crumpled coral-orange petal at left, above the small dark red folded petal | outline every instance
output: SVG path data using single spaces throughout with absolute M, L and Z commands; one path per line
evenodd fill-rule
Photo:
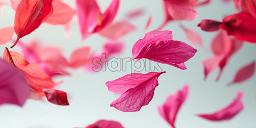
M 56 86 L 50 76 L 47 75 L 36 62 L 28 63 L 22 55 L 17 52 L 10 52 L 10 54 L 15 66 L 25 74 L 28 84 L 37 89 L 36 91 L 39 95 L 44 95 L 42 89 Z M 6 61 L 10 60 L 6 50 L 4 51 L 3 59 Z

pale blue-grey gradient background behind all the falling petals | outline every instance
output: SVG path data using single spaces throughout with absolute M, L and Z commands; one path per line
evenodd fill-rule
M 101 10 L 105 10 L 111 0 L 97 0 Z M 7 0 L 7 2 L 9 2 Z M 66 0 L 66 2 L 75 7 L 75 0 Z M 9 2 L 10 3 L 10 2 Z M 55 81 L 63 80 L 57 89 L 66 91 L 68 94 L 69 106 L 57 106 L 47 102 L 44 98 L 42 101 L 27 100 L 21 108 L 13 105 L 0 106 L 0 128 L 72 128 L 85 127 L 99 119 L 117 120 L 126 128 L 168 128 L 170 127 L 163 120 L 156 107 L 163 104 L 166 97 L 181 89 L 184 84 L 190 85 L 189 97 L 187 102 L 181 107 L 176 118 L 177 128 L 253 128 L 256 127 L 256 76 L 244 82 L 243 84 L 227 87 L 235 72 L 243 65 L 251 63 L 256 59 L 256 44 L 245 43 L 243 48 L 231 58 L 227 67 L 223 71 L 219 82 L 215 81 L 218 69 L 209 75 L 206 81 L 203 80 L 202 61 L 210 56 L 209 44 L 216 33 L 207 33 L 196 25 L 205 18 L 221 20 L 224 16 L 236 12 L 233 3 L 223 3 L 221 0 L 212 0 L 209 5 L 196 8 L 198 16 L 192 22 L 183 22 L 186 27 L 193 28 L 200 32 L 203 37 L 208 52 L 192 45 L 198 49 L 192 59 L 185 64 L 188 70 L 182 71 L 176 67 L 161 64 L 165 74 L 159 78 L 159 86 L 156 87 L 152 101 L 141 108 L 139 112 L 126 113 L 110 107 L 112 101 L 119 95 L 107 90 L 105 82 L 113 80 L 130 73 L 127 72 L 98 72 L 87 73 L 83 69 L 71 71 L 71 77 L 59 77 Z M 131 57 L 133 44 L 144 37 L 143 31 L 149 14 L 152 14 L 152 24 L 148 31 L 156 29 L 164 20 L 164 9 L 162 0 L 121 0 L 119 12 L 115 21 L 125 20 L 124 14 L 127 11 L 144 7 L 147 9 L 145 15 L 131 20 L 131 23 L 137 26 L 137 30 L 125 37 L 125 50 L 118 57 Z M 0 28 L 7 25 L 14 25 L 15 12 L 10 5 L 5 6 L 1 11 Z M 41 40 L 45 45 L 59 46 L 63 48 L 63 53 L 68 57 L 76 48 L 81 46 L 91 46 L 93 50 L 100 51 L 102 44 L 107 41 L 97 34 L 80 42 L 80 32 L 77 25 L 77 16 L 70 24 L 71 36 L 64 36 L 63 26 L 52 26 L 42 24 L 33 33 L 25 36 L 21 40 L 28 43 L 32 39 Z M 174 40 L 188 40 L 184 37 L 183 31 L 178 24 L 169 23 L 164 29 L 173 31 Z M 13 37 L 16 39 L 16 35 Z M 10 47 L 8 43 L 0 46 L 1 54 L 4 47 Z M 19 51 L 16 46 L 10 51 Z M 146 73 L 146 72 L 141 72 Z M 196 113 L 215 112 L 228 105 L 234 97 L 236 91 L 245 92 L 243 103 L 244 110 L 229 121 L 212 122 L 196 117 Z

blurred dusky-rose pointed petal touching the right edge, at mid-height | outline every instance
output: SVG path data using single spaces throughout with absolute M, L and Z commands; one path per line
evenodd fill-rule
M 232 82 L 229 83 L 229 85 L 241 83 L 249 78 L 251 78 L 255 73 L 255 61 L 252 63 L 245 65 L 241 67 L 235 74 L 235 77 Z

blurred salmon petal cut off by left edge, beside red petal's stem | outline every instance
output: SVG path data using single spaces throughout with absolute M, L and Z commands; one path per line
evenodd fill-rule
M 0 44 L 5 44 L 9 42 L 12 39 L 12 36 L 14 34 L 14 27 L 4 27 L 0 29 Z

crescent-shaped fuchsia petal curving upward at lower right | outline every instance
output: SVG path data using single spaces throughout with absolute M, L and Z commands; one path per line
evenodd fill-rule
M 238 92 L 237 97 L 225 108 L 213 114 L 197 114 L 197 116 L 211 121 L 222 121 L 232 119 L 240 111 L 243 110 L 242 97 L 244 93 Z

